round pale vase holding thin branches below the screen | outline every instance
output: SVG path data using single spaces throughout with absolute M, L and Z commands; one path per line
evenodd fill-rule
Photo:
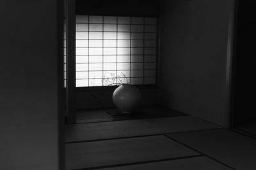
M 132 84 L 122 84 L 113 93 L 114 104 L 124 114 L 131 113 L 140 101 L 140 90 Z

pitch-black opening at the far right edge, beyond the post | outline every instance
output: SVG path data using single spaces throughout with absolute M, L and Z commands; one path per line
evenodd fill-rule
M 235 68 L 235 123 L 256 119 L 256 2 L 238 1 L 236 68 Z

